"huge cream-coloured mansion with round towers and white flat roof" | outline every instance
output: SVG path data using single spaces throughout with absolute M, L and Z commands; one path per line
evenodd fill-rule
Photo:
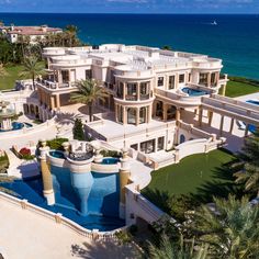
M 43 106 L 59 111 L 77 91 L 76 81 L 94 78 L 110 92 L 99 105 L 113 113 L 114 120 L 106 120 L 102 127 L 90 123 L 89 131 L 119 147 L 126 143 L 144 153 L 179 143 L 176 121 L 184 110 L 196 111 L 202 95 L 221 88 L 224 92 L 227 82 L 226 76 L 221 78 L 222 60 L 206 55 L 108 44 L 45 48 L 43 56 L 49 74 L 48 80 L 37 82 Z

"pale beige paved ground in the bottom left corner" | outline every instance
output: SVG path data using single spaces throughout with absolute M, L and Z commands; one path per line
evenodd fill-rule
M 0 201 L 0 252 L 7 259 L 136 258 L 131 245 L 92 241 L 48 218 Z

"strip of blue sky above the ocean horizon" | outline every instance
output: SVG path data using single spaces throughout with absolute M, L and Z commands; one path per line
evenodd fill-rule
M 0 12 L 259 13 L 259 0 L 0 0 Z

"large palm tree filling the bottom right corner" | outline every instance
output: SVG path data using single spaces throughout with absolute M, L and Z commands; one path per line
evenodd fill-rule
M 216 258 L 259 257 L 259 207 L 252 207 L 247 198 L 240 201 L 215 199 L 215 211 L 202 205 L 188 213 L 187 230 L 195 239 L 210 245 Z

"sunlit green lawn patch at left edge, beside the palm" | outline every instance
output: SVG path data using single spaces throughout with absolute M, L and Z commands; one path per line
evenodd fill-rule
M 19 80 L 19 74 L 23 67 L 21 65 L 5 67 L 8 76 L 0 78 L 0 90 L 13 89 L 15 80 Z

